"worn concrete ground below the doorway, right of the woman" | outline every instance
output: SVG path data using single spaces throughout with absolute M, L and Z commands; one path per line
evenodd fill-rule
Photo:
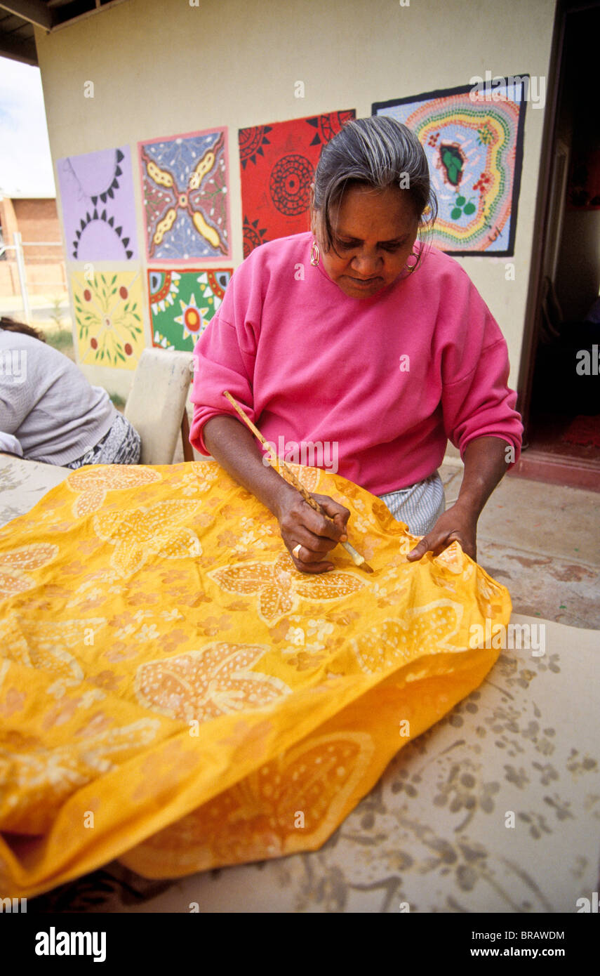
M 460 461 L 447 456 L 440 476 L 449 508 Z M 479 518 L 477 561 L 513 613 L 600 630 L 600 492 L 506 475 Z

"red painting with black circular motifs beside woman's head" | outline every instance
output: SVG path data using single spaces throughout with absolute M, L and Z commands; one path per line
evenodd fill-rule
M 265 241 L 308 229 L 321 149 L 355 117 L 349 109 L 239 130 L 245 258 Z

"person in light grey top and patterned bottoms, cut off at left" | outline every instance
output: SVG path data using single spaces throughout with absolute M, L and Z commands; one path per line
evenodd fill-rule
M 140 461 L 140 434 L 106 390 L 12 318 L 0 319 L 0 447 L 62 468 Z

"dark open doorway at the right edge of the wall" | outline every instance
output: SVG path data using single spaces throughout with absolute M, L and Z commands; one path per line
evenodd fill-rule
M 600 6 L 557 9 L 514 473 L 600 491 Z M 530 296 L 531 299 L 531 296 Z

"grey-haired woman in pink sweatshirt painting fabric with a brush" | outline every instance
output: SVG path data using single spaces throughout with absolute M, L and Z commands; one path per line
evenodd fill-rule
M 340 474 L 422 536 L 410 559 L 455 539 L 475 559 L 479 514 L 518 459 L 506 344 L 460 265 L 418 242 L 435 213 L 410 130 L 382 116 L 347 124 L 317 166 L 312 232 L 254 251 L 195 347 L 190 440 L 273 512 L 304 572 L 334 568 L 349 513 L 316 496 L 332 525 L 265 467 L 223 390 L 286 452 L 337 445 Z M 464 475 L 445 511 L 448 438 Z

